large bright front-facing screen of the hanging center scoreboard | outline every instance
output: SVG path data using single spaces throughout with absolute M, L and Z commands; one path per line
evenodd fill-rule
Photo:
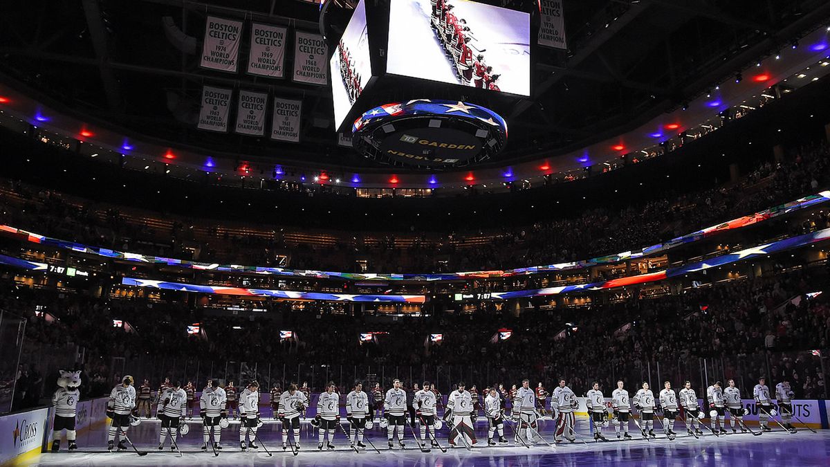
M 530 96 L 528 13 L 466 0 L 389 8 L 388 73 Z

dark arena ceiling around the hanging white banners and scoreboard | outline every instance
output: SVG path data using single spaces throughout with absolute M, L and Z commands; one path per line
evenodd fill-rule
M 530 0 L 490 1 L 524 11 Z M 198 66 L 207 14 L 320 30 L 320 5 L 300 0 L 11 2 L 0 16 L 0 73 L 79 118 L 158 142 L 235 154 L 382 170 L 337 145 L 328 86 L 227 75 Z M 348 7 L 339 2 L 330 8 Z M 569 50 L 536 47 L 532 96 L 505 115 L 507 149 L 487 165 L 577 150 L 677 109 L 713 83 L 830 17 L 824 0 L 574 0 Z M 191 53 L 193 52 L 193 53 Z M 193 119 L 203 84 L 303 101 L 300 145 L 215 135 Z M 405 171 L 405 170 L 401 170 Z

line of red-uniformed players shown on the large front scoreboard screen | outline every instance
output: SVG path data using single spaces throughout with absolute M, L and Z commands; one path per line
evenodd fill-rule
M 467 26 L 466 19 L 456 17 L 455 8 L 447 0 L 431 0 L 432 28 L 435 29 L 447 58 L 452 60 L 456 69 L 458 82 L 464 86 L 476 86 L 491 91 L 500 91 L 496 81 L 498 74 L 493 74 L 493 67 L 487 66 L 484 50 L 479 50 L 473 61 L 472 44 L 476 38 Z

